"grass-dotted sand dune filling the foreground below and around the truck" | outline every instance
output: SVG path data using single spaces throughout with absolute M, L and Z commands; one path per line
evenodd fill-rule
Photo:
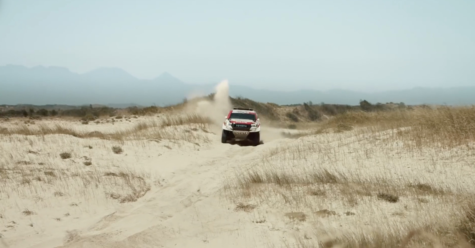
M 1 123 L 0 247 L 398 247 L 465 221 L 471 145 L 271 127 L 257 147 L 221 144 L 219 99 L 180 115 Z M 432 243 L 410 247 L 438 242 L 421 237 Z

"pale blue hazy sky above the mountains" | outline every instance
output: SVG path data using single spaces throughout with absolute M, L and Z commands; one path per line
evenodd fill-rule
M 475 0 L 0 0 L 0 65 L 276 89 L 475 85 Z

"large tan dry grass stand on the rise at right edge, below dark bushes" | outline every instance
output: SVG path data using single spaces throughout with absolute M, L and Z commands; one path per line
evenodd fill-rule
M 323 121 L 322 126 L 337 131 L 356 126 L 362 128 L 360 133 L 406 128 L 394 135 L 412 140 L 417 148 L 454 148 L 475 141 L 475 106 L 348 111 Z

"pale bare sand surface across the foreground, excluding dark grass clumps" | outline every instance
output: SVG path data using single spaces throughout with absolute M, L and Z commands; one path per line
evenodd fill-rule
M 2 127 L 7 125 L 14 124 Z M 68 125 L 85 128 L 79 122 Z M 101 125 L 104 132 L 116 128 Z M 341 189 L 331 186 L 315 196 L 304 193 L 305 187 L 232 188 L 248 169 L 304 177 L 324 168 L 358 179 L 382 175 L 395 185 L 417 179 L 471 190 L 473 184 L 472 157 L 463 151 L 409 152 L 402 144 L 385 141 L 384 133 L 377 139 L 352 132 L 284 139 L 278 137 L 280 130 L 264 130 L 264 144 L 257 147 L 221 144 L 219 134 L 200 130 L 196 132 L 209 142 L 2 136 L 2 240 L 10 248 L 292 247 L 314 241 L 322 231 L 397 229 L 447 219 L 454 210 L 450 199 L 426 196 L 433 204 L 424 204 L 409 195 L 397 203 L 361 197 L 352 206 L 351 199 L 339 196 Z M 123 153 L 114 154 L 114 145 L 122 146 Z M 72 158 L 61 159 L 63 151 L 71 151 Z M 92 165 L 83 164 L 85 157 Z M 131 179 L 129 185 L 120 177 L 104 176 L 120 171 L 140 179 Z M 104 193 L 127 195 L 143 188 L 150 190 L 134 202 L 120 203 Z M 238 211 L 238 202 L 255 208 Z M 26 216 L 25 209 L 34 213 Z M 317 212 L 322 209 L 330 216 Z

